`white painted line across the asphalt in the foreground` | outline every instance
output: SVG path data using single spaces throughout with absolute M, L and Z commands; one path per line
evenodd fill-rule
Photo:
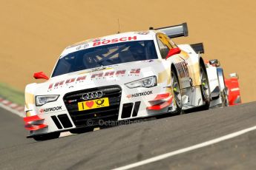
M 114 170 L 132 169 L 132 168 L 135 168 L 137 166 L 145 165 L 147 163 L 153 163 L 153 162 L 156 162 L 158 160 L 163 160 L 163 159 L 165 159 L 167 157 L 174 156 L 176 154 L 182 154 L 184 152 L 189 152 L 189 151 L 194 150 L 194 149 L 200 149 L 202 147 L 209 146 L 209 145 L 212 145 L 214 143 L 219 143 L 219 142 L 221 142 L 223 140 L 229 140 L 229 139 L 231 139 L 233 137 L 237 137 L 237 136 L 243 135 L 243 134 L 245 134 L 247 132 L 251 132 L 251 131 L 253 131 L 255 129 L 256 129 L 256 126 L 252 126 L 250 128 L 243 129 L 243 130 L 231 133 L 229 135 L 224 135 L 222 137 L 217 137 L 217 138 L 215 138 L 213 140 L 208 140 L 206 142 L 199 143 L 199 144 L 196 144 L 194 146 L 188 146 L 188 147 L 183 148 L 183 149 L 178 149 L 178 150 L 176 150 L 174 152 L 168 152 L 168 153 L 165 153 L 165 154 L 160 154 L 160 155 L 158 155 L 156 157 L 151 157 L 151 158 L 148 158 L 146 160 L 139 161 L 137 163 L 131 163 L 131 164 L 127 165 L 127 166 L 121 166 L 121 167 L 116 168 Z

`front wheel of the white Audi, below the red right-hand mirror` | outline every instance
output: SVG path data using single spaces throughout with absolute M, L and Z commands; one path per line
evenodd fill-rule
M 177 75 L 177 71 L 174 68 L 171 69 L 171 88 L 174 94 L 174 102 L 177 106 L 177 109 L 174 112 L 174 114 L 180 115 L 183 108 L 182 94 L 181 94 L 180 81 Z

